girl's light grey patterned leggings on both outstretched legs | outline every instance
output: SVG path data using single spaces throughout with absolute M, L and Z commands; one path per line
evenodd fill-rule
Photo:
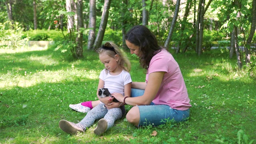
M 120 108 L 111 108 L 108 110 L 103 106 L 104 104 L 98 104 L 98 106 L 92 108 L 79 124 L 82 124 L 86 130 L 86 128 L 92 126 L 95 120 L 104 118 L 108 122 L 107 130 L 114 126 L 115 120 L 122 118 L 122 110 Z

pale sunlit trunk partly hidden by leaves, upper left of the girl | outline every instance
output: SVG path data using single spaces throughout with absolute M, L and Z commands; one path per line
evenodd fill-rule
M 72 12 L 72 2 L 73 0 L 66 0 L 66 10 L 67 12 Z M 72 28 L 74 28 L 74 16 L 72 16 L 71 14 L 68 14 L 68 22 L 67 22 L 67 29 L 68 29 L 68 32 L 70 32 L 70 30 L 72 30 Z

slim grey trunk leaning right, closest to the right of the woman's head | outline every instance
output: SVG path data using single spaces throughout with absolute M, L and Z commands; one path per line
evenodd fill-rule
M 166 48 L 169 47 L 170 41 L 172 39 L 172 33 L 173 33 L 173 30 L 174 30 L 174 27 L 175 27 L 175 24 L 176 24 L 176 20 L 177 20 L 177 17 L 178 17 L 179 9 L 180 9 L 180 0 L 177 0 L 176 6 L 175 6 L 174 16 L 173 16 L 173 19 L 172 19 L 172 24 L 170 26 L 170 31 L 168 33 L 166 41 L 164 42 L 164 47 L 166 47 Z

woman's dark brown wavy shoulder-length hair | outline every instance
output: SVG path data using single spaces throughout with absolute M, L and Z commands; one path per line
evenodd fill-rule
M 162 49 L 158 46 L 156 36 L 146 26 L 138 25 L 129 30 L 125 39 L 140 47 L 140 65 L 148 70 L 150 60 Z

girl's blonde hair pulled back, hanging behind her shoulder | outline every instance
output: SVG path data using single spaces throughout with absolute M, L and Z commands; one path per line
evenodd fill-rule
M 111 46 L 114 48 L 105 48 L 105 45 L 109 43 L 111 44 Z M 114 44 L 113 42 L 106 42 L 106 44 L 104 44 L 102 47 L 96 49 L 95 51 L 98 54 L 102 54 L 105 53 L 108 56 L 115 58 L 115 55 L 117 54 L 119 56 L 119 61 L 118 64 L 119 66 L 125 70 L 126 72 L 130 72 L 131 70 L 131 63 L 130 60 L 128 60 L 128 57 L 125 55 L 124 52 L 122 52 L 122 50 L 120 48 L 118 48 L 118 46 L 116 44 Z

